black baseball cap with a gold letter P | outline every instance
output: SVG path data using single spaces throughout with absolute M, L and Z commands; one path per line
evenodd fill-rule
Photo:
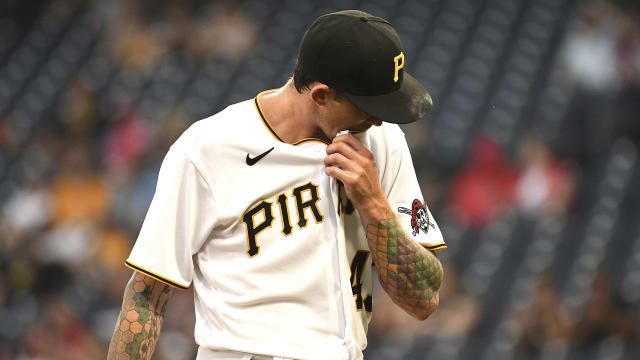
M 307 29 L 298 66 L 339 91 L 358 109 L 406 124 L 431 110 L 431 95 L 404 70 L 398 33 L 385 19 L 359 10 L 322 15 Z

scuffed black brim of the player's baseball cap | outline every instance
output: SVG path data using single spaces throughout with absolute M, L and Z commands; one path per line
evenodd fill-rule
M 358 109 L 390 123 L 408 124 L 423 118 L 431 110 L 431 95 L 413 76 L 403 74 L 400 89 L 384 95 L 343 94 Z

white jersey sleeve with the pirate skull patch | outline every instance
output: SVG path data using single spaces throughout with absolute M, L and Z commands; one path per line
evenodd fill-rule
M 388 141 L 394 145 L 387 153 L 387 172 L 382 179 L 389 204 L 405 232 L 417 242 L 432 251 L 446 249 L 440 228 L 424 202 L 404 133 L 398 128 L 392 135 Z

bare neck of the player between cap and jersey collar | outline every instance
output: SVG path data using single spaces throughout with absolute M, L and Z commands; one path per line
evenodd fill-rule
M 269 125 L 287 144 L 306 138 L 329 141 L 315 125 L 308 101 L 289 79 L 282 88 L 260 96 L 260 108 Z

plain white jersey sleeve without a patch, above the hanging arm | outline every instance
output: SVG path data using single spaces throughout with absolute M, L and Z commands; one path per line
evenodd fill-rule
M 162 162 L 156 192 L 126 265 L 156 280 L 186 289 L 193 255 L 215 225 L 211 189 L 193 162 L 172 147 Z

